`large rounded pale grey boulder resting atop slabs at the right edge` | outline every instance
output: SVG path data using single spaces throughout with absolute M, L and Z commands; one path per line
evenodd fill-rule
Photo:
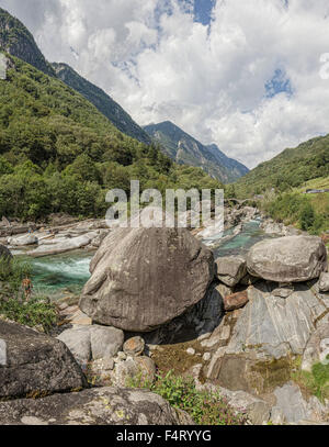
M 269 281 L 308 281 L 327 271 L 327 250 L 316 236 L 265 239 L 251 247 L 247 267 L 250 275 Z

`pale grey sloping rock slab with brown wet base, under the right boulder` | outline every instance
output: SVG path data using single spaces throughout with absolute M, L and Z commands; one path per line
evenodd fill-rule
M 249 303 L 239 311 L 229 342 L 217 348 L 206 368 L 208 379 L 253 394 L 290 380 L 294 356 L 303 355 L 329 302 L 305 284 L 295 284 L 286 299 L 273 295 L 275 287 L 259 282 L 249 288 Z

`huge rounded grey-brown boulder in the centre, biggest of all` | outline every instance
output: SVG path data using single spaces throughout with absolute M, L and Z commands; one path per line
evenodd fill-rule
M 118 228 L 93 257 L 80 309 L 94 322 L 150 332 L 201 301 L 214 257 L 185 228 Z

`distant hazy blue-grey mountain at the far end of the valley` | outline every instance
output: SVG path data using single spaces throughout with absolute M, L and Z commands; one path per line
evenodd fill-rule
M 181 165 L 200 166 L 224 183 L 235 181 L 249 172 L 246 166 L 228 158 L 215 144 L 203 145 L 170 121 L 150 124 L 144 130 L 174 161 Z

